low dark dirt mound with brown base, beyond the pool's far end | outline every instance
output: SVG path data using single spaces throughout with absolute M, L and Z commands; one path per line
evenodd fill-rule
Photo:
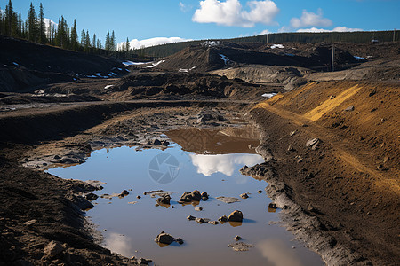
M 260 85 L 201 73 L 136 73 L 117 81 L 108 99 L 138 98 L 260 98 Z M 261 93 L 262 92 L 262 93 Z M 268 91 L 267 91 L 268 92 Z

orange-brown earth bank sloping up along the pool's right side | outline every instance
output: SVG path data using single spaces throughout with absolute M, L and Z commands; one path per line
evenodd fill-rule
M 356 85 L 361 89 L 354 91 Z M 343 91 L 347 97 L 334 103 L 332 95 Z M 270 183 L 267 192 L 284 208 L 284 226 L 329 265 L 396 265 L 400 257 L 398 151 L 389 129 L 398 120 L 371 111 L 396 108 L 388 95 L 398 91 L 393 84 L 316 83 L 251 111 L 268 162 L 243 172 Z M 350 105 L 357 112 L 347 111 Z M 310 115 L 313 110 L 323 114 Z M 338 129 L 335 120 L 345 127 Z M 379 121 L 389 121 L 389 128 Z M 316 144 L 307 146 L 311 139 Z

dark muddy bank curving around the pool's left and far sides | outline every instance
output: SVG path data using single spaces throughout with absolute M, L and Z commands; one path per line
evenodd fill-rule
M 212 111 L 212 106 L 225 106 L 226 110 Z M 0 245 L 4 250 L 0 264 L 139 263 L 140 258 L 111 254 L 94 242 L 93 226 L 84 219 L 84 210 L 92 203 L 84 195 L 96 187 L 63 180 L 42 169 L 50 167 L 55 157 L 65 159 L 65 165 L 82 163 L 92 150 L 116 145 L 163 149 L 155 140 L 168 127 L 224 124 L 234 120 L 231 113 L 244 106 L 224 101 L 91 103 L 2 113 L 2 141 L 7 142 L 0 144 Z M 205 109 L 209 111 L 204 113 Z M 22 167 L 31 158 L 40 165 Z M 51 160 L 44 162 L 46 158 Z M 60 242 L 59 254 L 45 254 L 51 241 Z

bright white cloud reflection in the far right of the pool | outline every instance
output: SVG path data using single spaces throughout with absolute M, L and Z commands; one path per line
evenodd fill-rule
M 197 173 L 204 176 L 211 176 L 218 172 L 232 176 L 236 164 L 253 166 L 264 161 L 258 154 L 189 154 L 189 156 L 193 165 L 197 167 Z

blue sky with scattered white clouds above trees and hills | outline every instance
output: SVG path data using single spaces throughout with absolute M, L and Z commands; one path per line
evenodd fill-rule
M 32 1 L 53 21 L 118 42 L 154 37 L 230 38 L 265 32 L 388 30 L 400 28 L 400 0 L 41 0 Z M 8 0 L 0 0 L 4 10 Z M 30 1 L 13 0 L 26 17 Z

